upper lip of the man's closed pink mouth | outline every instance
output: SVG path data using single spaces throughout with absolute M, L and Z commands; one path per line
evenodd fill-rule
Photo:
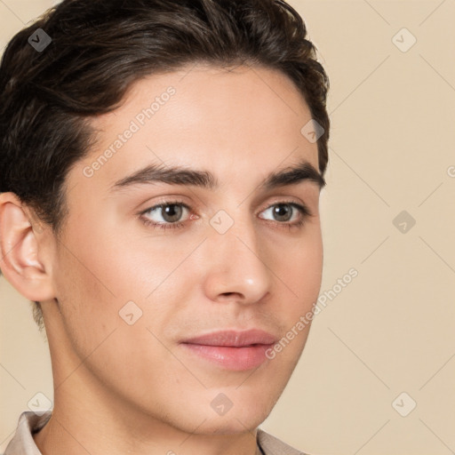
M 248 331 L 213 331 L 205 335 L 184 339 L 182 343 L 206 346 L 244 347 L 251 345 L 271 345 L 275 337 L 267 331 L 251 329 Z

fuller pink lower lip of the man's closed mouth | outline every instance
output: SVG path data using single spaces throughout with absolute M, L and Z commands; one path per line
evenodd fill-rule
M 249 347 L 207 346 L 191 343 L 181 343 L 196 355 L 217 363 L 233 371 L 251 370 L 267 360 L 266 351 L 271 345 L 256 345 Z

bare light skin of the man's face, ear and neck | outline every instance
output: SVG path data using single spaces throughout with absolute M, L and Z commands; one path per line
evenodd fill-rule
M 85 177 L 84 167 L 169 86 L 171 100 Z M 42 302 L 51 349 L 54 409 L 34 436 L 44 455 L 255 453 L 257 427 L 283 393 L 309 325 L 254 371 L 208 363 L 179 341 L 253 327 L 280 339 L 313 307 L 323 268 L 320 189 L 308 180 L 258 189 L 269 172 L 300 159 L 318 169 L 317 144 L 300 133 L 310 118 L 275 70 L 196 66 L 150 76 L 121 108 L 93 119 L 100 140 L 68 172 L 60 240 L 15 195 L 0 196 L 2 270 Z M 211 171 L 220 188 L 157 183 L 109 193 L 116 180 L 161 161 Z M 137 216 L 176 196 L 191 208 L 184 228 L 147 227 Z M 289 230 L 267 210 L 283 201 L 314 216 Z M 209 223 L 220 210 L 234 220 L 224 235 Z M 159 211 L 148 219 L 166 222 Z M 119 310 L 131 300 L 143 314 L 128 325 Z M 222 416 L 211 406 L 220 393 L 233 403 Z

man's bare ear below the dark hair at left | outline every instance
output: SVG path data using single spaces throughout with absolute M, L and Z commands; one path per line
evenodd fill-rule
M 52 279 L 38 254 L 43 234 L 14 193 L 0 193 L 0 268 L 20 294 L 33 301 L 53 299 Z

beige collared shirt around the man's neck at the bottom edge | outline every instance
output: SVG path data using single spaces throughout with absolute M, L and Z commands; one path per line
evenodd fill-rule
M 4 455 L 42 455 L 36 447 L 33 435 L 41 430 L 51 419 L 52 411 L 38 415 L 33 411 L 24 411 L 20 414 L 16 433 L 6 447 Z M 273 435 L 258 428 L 256 455 L 307 455 L 293 449 Z

